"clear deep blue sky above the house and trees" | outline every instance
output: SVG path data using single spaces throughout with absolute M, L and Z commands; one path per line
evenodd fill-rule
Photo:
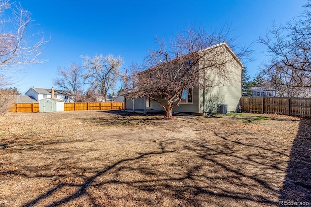
M 16 86 L 25 93 L 30 87 L 57 88 L 57 67 L 82 63 L 81 55 L 120 55 L 124 68 L 141 62 L 155 37 L 171 38 L 188 25 L 217 29 L 231 25 L 238 45 L 255 41 L 254 61 L 245 63 L 253 78 L 266 60 L 264 45 L 256 42 L 272 23 L 284 24 L 299 16 L 306 0 L 200 0 L 200 1 L 106 1 L 106 0 L 21 0 L 35 20 L 31 32 L 42 31 L 50 41 L 44 46 L 46 62 L 24 66 Z M 117 89 L 121 87 L 119 84 Z

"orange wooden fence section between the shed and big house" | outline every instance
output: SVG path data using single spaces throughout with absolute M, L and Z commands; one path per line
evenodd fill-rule
M 64 103 L 65 111 L 82 111 L 82 110 L 114 110 L 124 109 L 123 102 L 74 102 Z

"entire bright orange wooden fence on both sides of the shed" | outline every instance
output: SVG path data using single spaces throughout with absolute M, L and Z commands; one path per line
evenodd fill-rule
M 82 110 L 120 110 L 124 109 L 123 102 L 74 102 L 64 103 L 65 111 Z M 39 103 L 15 103 L 9 112 L 39 112 Z

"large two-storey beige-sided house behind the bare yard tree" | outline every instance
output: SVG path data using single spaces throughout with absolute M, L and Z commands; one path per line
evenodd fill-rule
M 221 77 L 213 71 L 204 69 L 203 77 L 208 77 L 208 83 L 203 85 L 208 85 L 209 87 L 192 87 L 184 90 L 182 100 L 179 106 L 173 108 L 173 112 L 204 114 L 209 110 L 217 111 L 219 104 L 226 105 L 227 111 L 238 110 L 242 97 L 242 69 L 244 66 L 226 43 L 221 43 L 212 47 L 217 48 L 217 50 L 222 50 L 222 52 L 224 51 L 225 55 L 233 60 L 230 64 L 225 65 L 228 71 L 227 78 Z M 198 67 L 204 68 L 204 64 L 204 61 L 202 61 L 198 64 Z M 207 82 L 207 78 L 201 81 Z M 165 97 L 158 96 L 155 98 L 165 105 Z M 163 111 L 160 104 L 147 97 L 127 97 L 125 99 L 125 108 L 137 112 L 152 110 Z

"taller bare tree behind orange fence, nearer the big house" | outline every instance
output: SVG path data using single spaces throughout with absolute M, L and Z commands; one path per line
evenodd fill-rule
M 120 79 L 123 59 L 120 56 L 114 58 L 113 55 L 103 57 L 101 54 L 95 55 L 92 59 L 88 56 L 82 56 L 82 58 L 85 60 L 83 65 L 87 70 L 86 80 L 104 95 L 104 101 L 106 101 L 109 90 L 113 90 Z

